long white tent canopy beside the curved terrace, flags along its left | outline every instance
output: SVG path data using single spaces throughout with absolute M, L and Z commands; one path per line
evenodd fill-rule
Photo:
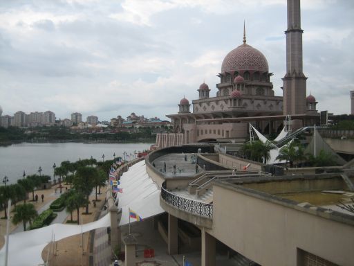
M 118 193 L 116 199 L 118 209 L 122 209 L 120 226 L 129 223 L 129 209 L 143 219 L 165 212 L 160 207 L 160 188 L 147 175 L 145 167 L 145 161 L 140 161 L 120 178 L 118 187 L 123 189 L 123 193 Z

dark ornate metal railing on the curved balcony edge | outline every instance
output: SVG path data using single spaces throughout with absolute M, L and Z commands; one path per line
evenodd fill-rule
M 188 213 L 210 219 L 213 216 L 212 204 L 198 202 L 193 199 L 186 199 L 185 197 L 175 195 L 166 189 L 166 181 L 164 181 L 161 186 L 161 197 L 167 204 L 180 210 L 187 211 Z

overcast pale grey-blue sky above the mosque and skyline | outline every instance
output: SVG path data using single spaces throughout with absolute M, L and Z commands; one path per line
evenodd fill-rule
M 301 3 L 307 94 L 319 111 L 350 113 L 354 1 Z M 282 96 L 286 0 L 0 0 L 3 115 L 72 112 L 100 121 L 178 112 L 205 82 L 216 96 L 225 55 L 247 42 L 268 60 Z

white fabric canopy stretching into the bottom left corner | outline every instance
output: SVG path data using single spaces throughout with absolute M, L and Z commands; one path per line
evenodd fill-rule
M 100 220 L 83 225 L 52 224 L 31 231 L 10 234 L 8 242 L 8 266 L 28 266 L 44 263 L 41 253 L 52 240 L 55 241 L 85 233 L 100 227 L 111 226 L 110 213 Z M 0 250 L 0 265 L 5 262 L 5 245 Z

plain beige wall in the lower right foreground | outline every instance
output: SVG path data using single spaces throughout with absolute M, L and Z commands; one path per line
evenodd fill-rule
M 255 262 L 296 266 L 300 248 L 338 265 L 354 265 L 353 225 L 218 185 L 213 190 L 213 229 L 207 232 Z

